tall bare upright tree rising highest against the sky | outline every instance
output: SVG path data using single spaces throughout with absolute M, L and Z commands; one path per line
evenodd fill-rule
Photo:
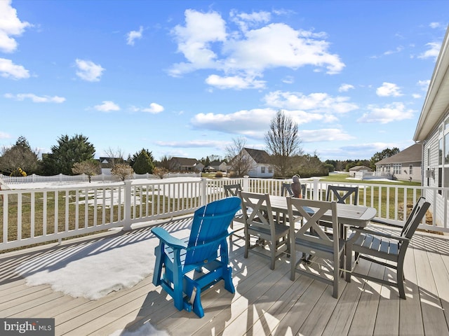
M 265 134 L 265 143 L 272 164 L 279 176 L 286 177 L 292 168 L 291 158 L 302 153 L 301 140 L 298 136 L 297 123 L 283 111 L 278 111 L 272 119 L 269 131 Z

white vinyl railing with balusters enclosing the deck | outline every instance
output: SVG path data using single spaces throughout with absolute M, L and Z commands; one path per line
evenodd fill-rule
M 278 179 L 180 179 L 179 181 L 134 180 L 80 186 L 0 190 L 0 251 L 46 241 L 123 227 L 134 223 L 173 218 L 193 213 L 203 204 L 225 197 L 225 184 L 240 183 L 243 190 L 281 195 Z M 288 181 L 290 182 L 290 181 Z M 363 183 L 326 183 L 303 179 L 306 197 L 326 198 L 328 184 L 358 186 L 358 204 L 377 209 L 377 219 L 403 224 L 420 195 L 430 200 L 431 212 L 443 220 L 423 221 L 420 228 L 449 232 L 449 188 L 423 188 Z M 352 201 L 352 200 L 351 200 Z M 442 205 L 441 205 L 442 204 Z

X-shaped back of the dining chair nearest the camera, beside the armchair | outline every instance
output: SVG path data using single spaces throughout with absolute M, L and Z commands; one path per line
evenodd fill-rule
M 334 249 L 338 250 L 340 228 L 338 224 L 336 202 L 304 200 L 289 197 L 287 199 L 287 208 L 288 222 L 290 225 L 292 225 L 293 221 L 297 222 L 300 217 L 304 218 L 304 225 L 297 230 L 295 238 L 310 241 L 317 245 L 333 246 Z M 323 220 L 325 214 L 326 218 Z M 333 235 L 328 235 L 325 231 L 326 228 L 319 224 L 320 221 L 332 223 Z M 336 248 L 334 243 L 337 245 Z

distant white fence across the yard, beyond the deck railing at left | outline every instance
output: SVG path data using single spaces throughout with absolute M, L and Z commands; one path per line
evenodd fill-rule
M 168 173 L 163 176 L 169 177 L 201 177 L 201 173 Z M 128 179 L 159 179 L 159 176 L 153 174 L 133 174 Z M 25 183 L 55 183 L 55 182 L 87 182 L 89 178 L 86 174 L 81 175 L 53 175 L 53 176 L 41 176 L 32 174 L 29 176 L 5 176 L 0 174 L 0 181 L 4 181 L 6 184 L 25 184 Z M 91 176 L 91 181 L 120 181 L 116 176 L 109 174 L 100 174 Z

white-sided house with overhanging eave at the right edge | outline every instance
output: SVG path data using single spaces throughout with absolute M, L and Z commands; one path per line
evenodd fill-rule
M 449 27 L 436 59 L 414 141 L 422 144 L 422 185 L 449 187 Z M 427 190 L 424 197 L 436 206 L 436 224 L 448 218 L 448 195 Z

